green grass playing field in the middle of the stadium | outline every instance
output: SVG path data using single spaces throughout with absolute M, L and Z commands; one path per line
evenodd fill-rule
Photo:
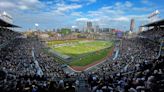
M 60 46 L 59 46 L 60 45 Z M 98 61 L 109 53 L 111 41 L 68 40 L 51 41 L 48 46 L 55 52 L 71 57 L 71 66 L 85 66 Z

